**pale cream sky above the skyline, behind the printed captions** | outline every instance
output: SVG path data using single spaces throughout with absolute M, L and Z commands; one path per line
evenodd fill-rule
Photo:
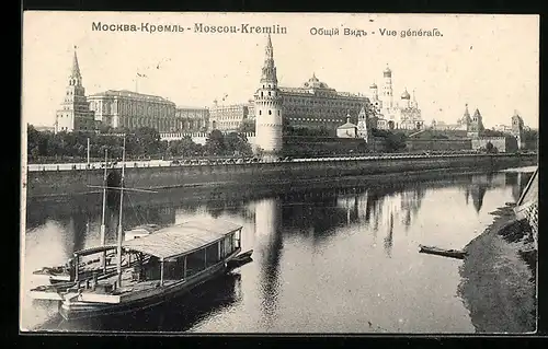
M 182 33 L 93 31 L 92 23 L 178 24 Z M 290 14 L 25 12 L 23 123 L 53 126 L 77 46 L 85 93 L 132 90 L 182 106 L 244 103 L 259 86 L 265 34 L 195 33 L 204 25 L 279 25 L 273 34 L 281 86 L 300 86 L 312 73 L 341 92 L 381 88 L 392 70 L 395 100 L 414 90 L 424 120 L 455 123 L 465 105 L 486 127 L 510 125 L 514 110 L 538 127 L 539 16 L 492 14 Z M 311 28 L 339 28 L 312 35 Z M 344 28 L 365 36 L 344 35 Z M 402 31 L 443 36 L 401 37 Z M 396 31 L 396 36 L 380 30 Z M 312 30 L 313 32 L 313 30 Z M 137 73 L 147 78 L 139 79 Z

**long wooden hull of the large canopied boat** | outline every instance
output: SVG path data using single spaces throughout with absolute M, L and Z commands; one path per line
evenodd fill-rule
M 141 311 L 149 309 L 151 306 L 159 305 L 167 302 L 168 300 L 181 295 L 185 292 L 192 291 L 197 286 L 214 279 L 227 271 L 227 263 L 232 259 L 240 251 L 235 252 L 235 254 L 215 266 L 204 270 L 199 275 L 193 278 L 189 278 L 185 281 L 176 282 L 171 286 L 158 287 L 156 289 L 150 289 L 147 291 L 141 291 L 140 294 L 130 299 L 121 299 L 119 303 L 109 304 L 109 303 L 95 303 L 95 302 L 70 302 L 62 301 L 59 303 L 59 314 L 66 321 L 82 319 L 82 318 L 96 318 L 109 315 L 119 315 L 125 313 L 135 313 L 136 311 Z

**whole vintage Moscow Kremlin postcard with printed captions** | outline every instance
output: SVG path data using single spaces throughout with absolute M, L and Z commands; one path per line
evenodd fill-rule
M 539 16 L 25 11 L 20 331 L 535 334 Z

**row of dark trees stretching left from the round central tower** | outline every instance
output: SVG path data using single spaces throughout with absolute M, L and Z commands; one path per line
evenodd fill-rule
M 189 136 L 180 140 L 161 140 L 160 133 L 150 127 L 141 127 L 134 131 L 113 129 L 110 133 L 85 132 L 49 132 L 38 131 L 27 126 L 28 162 L 49 162 L 64 160 L 85 160 L 88 156 L 88 139 L 90 158 L 104 159 L 107 150 L 109 159 L 122 159 L 125 136 L 126 159 L 164 159 L 180 156 L 248 156 L 251 146 L 244 135 L 231 132 L 224 135 L 219 130 L 209 132 L 205 144 L 193 141 Z

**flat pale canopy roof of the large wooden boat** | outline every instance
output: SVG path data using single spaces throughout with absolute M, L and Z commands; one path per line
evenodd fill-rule
M 224 220 L 193 220 L 163 228 L 153 234 L 124 242 L 126 249 L 165 259 L 190 254 L 242 229 Z

